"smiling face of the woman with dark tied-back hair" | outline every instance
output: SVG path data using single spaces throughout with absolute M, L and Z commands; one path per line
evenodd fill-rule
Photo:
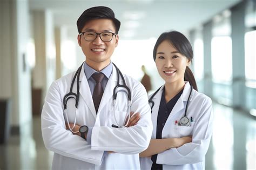
M 157 47 L 156 66 L 165 83 L 184 84 L 184 73 L 188 65 L 190 60 L 179 53 L 168 40 Z

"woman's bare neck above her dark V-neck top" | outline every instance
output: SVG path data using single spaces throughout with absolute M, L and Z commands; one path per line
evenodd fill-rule
M 185 86 L 184 80 L 173 83 L 165 83 L 165 101 L 170 101 L 176 96 Z

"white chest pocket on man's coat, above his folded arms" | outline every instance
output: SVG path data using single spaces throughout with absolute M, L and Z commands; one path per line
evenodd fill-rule
M 109 124 L 108 126 L 116 125 L 116 126 L 123 126 L 125 124 L 126 119 L 126 112 L 124 111 L 111 111 L 109 117 Z

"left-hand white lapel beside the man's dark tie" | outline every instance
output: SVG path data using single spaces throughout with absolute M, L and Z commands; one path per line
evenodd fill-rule
M 85 73 L 84 73 L 84 65 L 83 65 L 81 73 L 80 73 L 79 82 L 80 82 L 80 85 L 79 85 L 80 96 L 82 96 L 84 102 L 89 107 L 91 114 L 96 119 L 96 110 L 95 110 L 95 106 L 93 104 L 91 90 L 90 90 L 87 78 L 85 76 Z

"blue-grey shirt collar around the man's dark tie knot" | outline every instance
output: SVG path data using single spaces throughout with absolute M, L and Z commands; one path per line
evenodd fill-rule
M 102 69 L 100 72 L 102 72 L 107 79 L 109 79 L 111 73 L 112 73 L 112 62 L 110 62 L 109 65 L 107 65 L 104 69 Z M 92 76 L 92 74 L 94 73 L 98 73 L 98 71 L 92 69 L 92 67 L 90 67 L 89 65 L 86 64 L 86 62 L 84 62 L 84 73 L 85 73 L 85 76 L 87 78 L 87 80 Z

